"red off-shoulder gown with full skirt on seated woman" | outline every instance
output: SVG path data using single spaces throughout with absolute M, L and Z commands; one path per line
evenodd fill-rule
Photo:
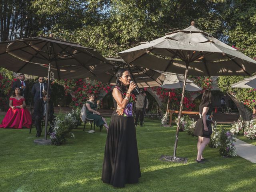
M 10 98 L 12 100 L 12 106 L 20 106 L 23 104 L 25 99 L 17 100 L 16 98 Z M 32 124 L 32 117 L 30 112 L 23 108 L 16 108 L 9 110 L 6 113 L 6 116 L 2 120 L 0 124 L 0 128 L 16 128 L 22 129 L 23 127 L 30 128 Z

